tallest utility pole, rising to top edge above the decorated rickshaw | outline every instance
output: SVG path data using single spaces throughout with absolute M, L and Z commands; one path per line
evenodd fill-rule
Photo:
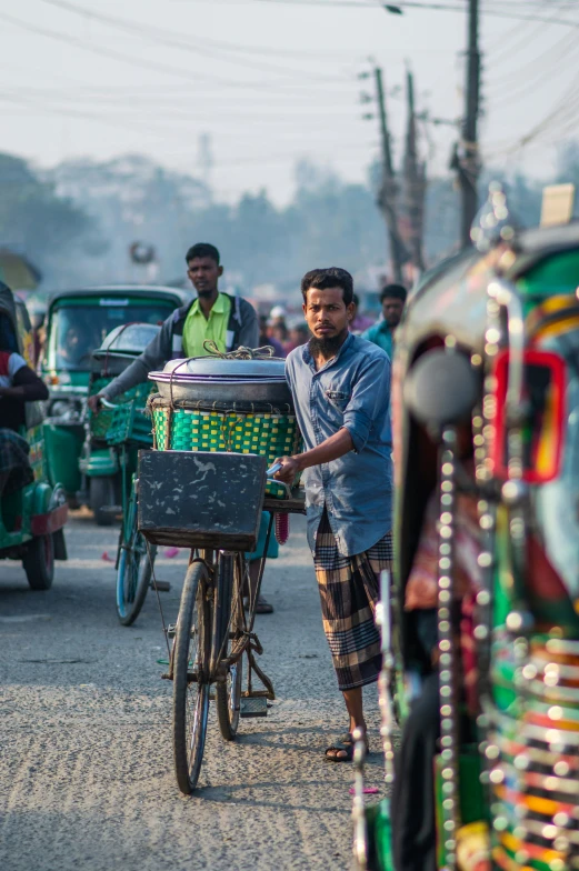
M 455 156 L 452 166 L 458 171 L 462 192 L 461 242 L 470 244 L 470 228 L 478 211 L 478 179 L 480 172 L 478 117 L 480 97 L 479 0 L 469 0 L 467 83 L 465 92 L 463 153 Z

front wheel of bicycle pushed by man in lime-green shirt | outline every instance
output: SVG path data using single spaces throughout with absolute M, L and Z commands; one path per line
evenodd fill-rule
M 157 548 L 151 547 L 150 560 L 147 543 L 137 529 L 137 497 L 134 487 L 129 500 L 127 517 L 120 533 L 120 554 L 117 568 L 117 614 L 122 625 L 133 623 L 147 598 L 151 583 L 152 561 Z

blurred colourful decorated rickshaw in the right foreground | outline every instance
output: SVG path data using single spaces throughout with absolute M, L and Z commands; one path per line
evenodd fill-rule
M 393 798 L 365 805 L 360 740 L 358 869 L 409 867 L 397 802 L 429 674 L 432 794 L 415 814 L 433 809 L 433 867 L 579 868 L 579 223 L 516 232 L 496 189 L 486 227 L 492 242 L 425 276 L 396 337 L 397 562 L 378 614 Z

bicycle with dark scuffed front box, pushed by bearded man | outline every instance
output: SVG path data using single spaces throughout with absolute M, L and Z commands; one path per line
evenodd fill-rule
M 139 528 L 150 542 L 191 547 L 177 623 L 166 630 L 173 643 L 162 675 L 173 682 L 173 758 L 183 794 L 198 783 L 211 698 L 226 741 L 234 740 L 240 717 L 267 715 L 268 700 L 276 698 L 272 682 L 256 661 L 263 649 L 253 631 L 267 555 L 251 590 L 246 551 L 254 548 L 262 508 L 271 512 L 264 554 L 273 512 L 303 513 L 305 508 L 303 499 L 289 488 L 283 501 L 264 497 L 266 480 L 266 458 L 257 454 L 140 453 Z M 178 515 L 167 513 L 171 500 L 179 504 Z M 261 688 L 254 687 L 254 675 Z

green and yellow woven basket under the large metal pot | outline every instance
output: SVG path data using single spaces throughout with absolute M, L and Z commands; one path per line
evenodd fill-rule
M 152 402 L 152 419 L 154 447 L 160 451 L 258 453 L 269 463 L 301 451 L 293 414 L 171 408 L 157 399 Z M 279 499 L 287 495 L 286 488 L 273 481 L 268 482 L 266 492 Z

